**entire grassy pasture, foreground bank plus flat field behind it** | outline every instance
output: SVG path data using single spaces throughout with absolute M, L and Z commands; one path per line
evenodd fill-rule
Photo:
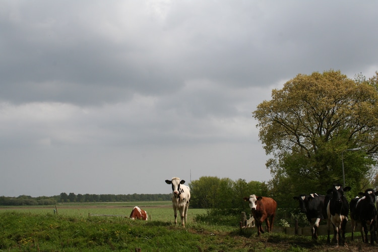
M 124 217 L 138 205 L 151 221 Z M 185 228 L 173 224 L 170 202 L 58 204 L 49 207 L 0 208 L 0 251 L 375 251 L 378 247 L 348 241 L 348 247 L 326 244 L 326 237 L 280 232 L 256 236 L 256 230 L 240 231 L 239 224 L 199 221 L 204 209 L 189 209 Z M 211 218 L 210 218 L 211 219 Z M 275 223 L 277 225 L 277 223 Z

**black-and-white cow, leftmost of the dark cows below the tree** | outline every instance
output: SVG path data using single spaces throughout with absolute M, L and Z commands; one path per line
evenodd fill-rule
M 307 220 L 311 224 L 312 239 L 318 239 L 319 223 L 327 218 L 327 209 L 324 201 L 326 196 L 318 194 L 294 196 L 293 199 L 299 202 L 299 208 L 306 214 Z

